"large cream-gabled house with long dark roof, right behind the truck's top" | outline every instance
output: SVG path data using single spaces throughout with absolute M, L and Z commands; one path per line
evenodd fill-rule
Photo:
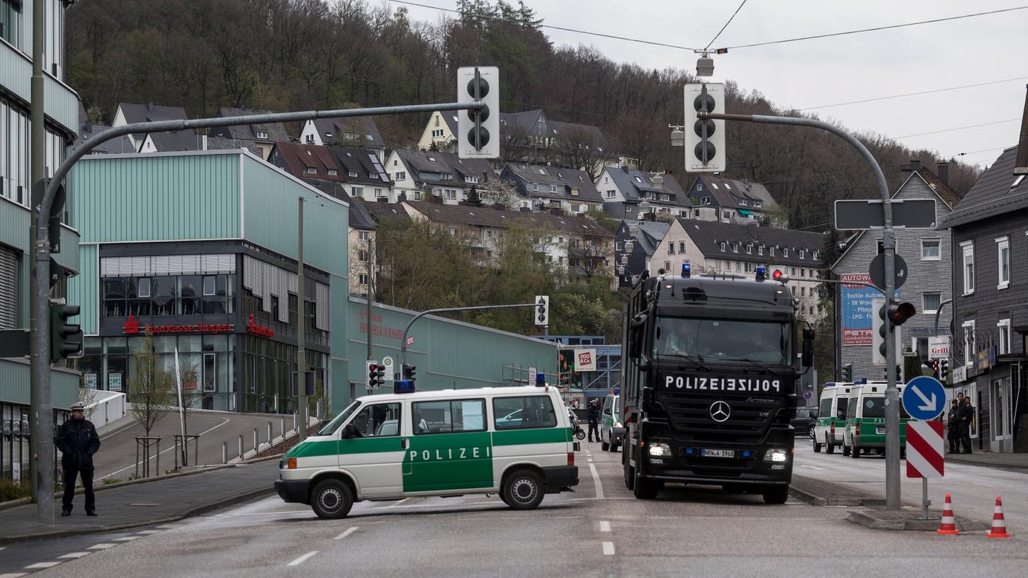
M 650 258 L 649 270 L 681 275 L 683 263 L 690 263 L 693 275 L 754 277 L 764 265 L 768 279 L 776 270 L 791 278 L 793 296 L 800 299 L 798 311 L 815 320 L 830 313 L 820 306 L 817 293 L 817 280 L 825 267 L 823 244 L 819 232 L 680 217 Z

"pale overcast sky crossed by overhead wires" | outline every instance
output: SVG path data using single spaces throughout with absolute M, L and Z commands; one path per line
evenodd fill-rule
M 417 0 L 454 8 L 455 0 Z M 705 46 L 741 0 L 525 0 L 544 24 L 683 46 Z M 516 4 L 516 1 L 512 1 Z M 904 24 L 1028 5 L 1025 0 L 747 0 L 711 48 Z M 394 4 L 394 6 L 398 6 Z M 415 20 L 440 12 L 408 6 Z M 544 29 L 555 44 L 595 46 L 618 62 L 695 70 L 686 50 Z M 850 130 L 900 139 L 966 162 L 991 164 L 1017 144 L 1028 84 L 1028 9 L 867 32 L 836 38 L 732 49 L 714 57 L 717 79 L 763 93 L 782 107 L 854 100 L 1025 77 L 931 95 L 817 109 Z M 471 63 L 469 63 L 471 64 Z M 481 63 L 487 65 L 489 63 Z M 732 111 L 729 111 L 732 112 Z M 981 125 L 998 120 L 1008 122 Z M 729 144 L 729 150 L 731 150 Z

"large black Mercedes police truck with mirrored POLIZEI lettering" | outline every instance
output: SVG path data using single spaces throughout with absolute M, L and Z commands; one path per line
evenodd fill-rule
M 652 499 L 665 481 L 788 498 L 796 382 L 813 330 L 797 351 L 787 276 L 640 279 L 624 313 L 625 485 Z M 801 353 L 802 352 L 802 353 Z M 798 355 L 800 353 L 800 355 Z

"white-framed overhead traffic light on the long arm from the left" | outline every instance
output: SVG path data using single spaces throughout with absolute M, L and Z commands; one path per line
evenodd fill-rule
M 460 103 L 485 103 L 481 110 L 457 111 L 457 155 L 461 158 L 500 156 L 500 69 L 494 66 L 458 68 L 456 97 Z

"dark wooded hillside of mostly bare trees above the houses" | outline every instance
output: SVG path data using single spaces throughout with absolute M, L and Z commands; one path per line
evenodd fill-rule
M 67 12 L 69 81 L 90 119 L 109 122 L 119 102 L 185 107 L 192 117 L 218 106 L 276 111 L 445 102 L 455 70 L 499 66 L 502 109 L 542 108 L 550 118 L 599 127 L 612 148 L 683 186 L 683 151 L 668 124 L 683 121 L 683 69 L 648 70 L 594 48 L 554 45 L 525 4 L 462 0 L 460 12 L 418 22 L 389 3 L 363 0 L 90 0 Z M 727 110 L 800 113 L 776 107 L 759 87 L 728 82 Z M 387 117 L 387 143 L 420 136 L 427 115 Z M 859 135 L 894 190 L 910 159 L 935 169 L 935 152 L 911 150 L 883 134 Z M 729 123 L 726 176 L 767 185 L 796 228 L 828 228 L 837 198 L 877 197 L 859 156 L 810 129 Z M 974 167 L 951 159 L 963 193 Z

